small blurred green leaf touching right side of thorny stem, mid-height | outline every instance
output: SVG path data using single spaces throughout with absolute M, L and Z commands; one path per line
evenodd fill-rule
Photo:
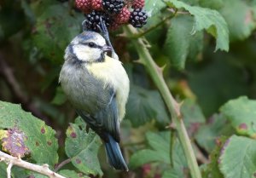
M 192 129 L 192 131 L 196 131 L 196 127 L 198 127 L 199 124 L 206 122 L 206 118 L 201 111 L 201 107 L 198 106 L 194 100 L 183 100 L 181 113 L 183 114 L 186 128 Z

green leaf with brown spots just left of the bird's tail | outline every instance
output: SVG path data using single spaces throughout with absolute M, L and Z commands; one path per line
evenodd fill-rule
M 75 123 L 70 123 L 66 134 L 65 150 L 67 157 L 72 158 L 73 165 L 85 174 L 102 175 L 97 158 L 102 143 L 95 132 L 90 129 L 86 133 L 84 121 L 77 118 Z

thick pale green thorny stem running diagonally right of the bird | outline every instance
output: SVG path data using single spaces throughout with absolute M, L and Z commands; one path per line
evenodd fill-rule
M 137 30 L 131 26 L 124 27 L 125 33 L 128 37 L 133 37 L 137 35 Z M 137 53 L 140 57 L 140 62 L 143 63 L 144 66 L 148 69 L 149 75 L 154 80 L 155 85 L 160 90 L 160 94 L 166 102 L 166 106 L 171 113 L 172 122 L 175 124 L 177 129 L 177 135 L 183 146 L 183 151 L 185 153 L 190 173 L 193 178 L 201 178 L 201 172 L 199 166 L 196 162 L 195 153 L 193 151 L 191 142 L 189 140 L 189 135 L 183 123 L 183 117 L 180 112 L 180 104 L 173 98 L 170 90 L 168 89 L 166 82 L 163 78 L 162 71 L 163 68 L 157 66 L 149 54 L 147 46 L 143 42 L 145 39 L 142 37 L 133 39 L 132 43 L 137 49 Z

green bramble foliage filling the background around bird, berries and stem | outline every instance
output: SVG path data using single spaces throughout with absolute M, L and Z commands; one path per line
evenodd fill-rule
M 109 169 L 100 139 L 85 133 L 58 84 L 84 15 L 73 1 L 0 1 L 1 150 L 67 177 L 195 178 L 166 84 L 182 103 L 200 176 L 256 177 L 256 1 L 146 0 L 145 9 L 143 29 L 111 33 L 131 80 L 121 125 L 131 171 L 122 173 Z M 161 68 L 148 63 L 148 51 L 165 66 L 166 83 L 158 83 Z M 1 162 L 0 178 L 6 168 Z M 12 176 L 45 177 L 18 167 Z

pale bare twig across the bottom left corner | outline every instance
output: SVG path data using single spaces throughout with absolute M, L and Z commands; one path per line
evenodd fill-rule
M 59 175 L 59 174 L 53 172 L 52 170 L 50 170 L 48 164 L 44 164 L 42 166 L 37 165 L 37 164 L 31 164 L 31 163 L 21 160 L 20 158 L 12 157 L 9 154 L 6 154 L 1 151 L 0 151 L 0 160 L 9 164 L 9 166 L 7 168 L 7 174 L 9 177 L 10 177 L 11 167 L 13 165 L 16 165 L 20 168 L 29 169 L 34 172 L 38 172 L 41 175 L 47 175 L 47 176 L 49 176 L 49 178 L 66 178 L 66 177 Z

